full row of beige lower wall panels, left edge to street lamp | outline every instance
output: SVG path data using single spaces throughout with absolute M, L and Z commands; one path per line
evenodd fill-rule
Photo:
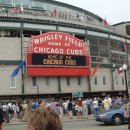
M 12 71 L 17 66 L 1 66 L 0 67 L 0 83 L 1 83 L 1 91 L 0 95 L 18 95 L 22 94 L 22 77 L 21 71 L 16 76 L 16 88 L 10 88 L 10 75 Z M 115 72 L 116 74 L 116 72 Z M 103 85 L 102 77 L 106 75 L 106 85 Z M 112 91 L 112 84 L 111 84 L 111 73 L 109 69 L 101 69 L 98 70 L 97 74 L 95 75 L 98 77 L 98 85 L 94 85 L 94 79 L 91 80 L 91 91 L 92 92 L 106 92 Z M 115 76 L 115 75 L 114 75 Z M 121 91 L 125 90 L 125 85 L 122 85 L 122 76 L 124 74 L 118 75 L 118 85 L 116 85 L 114 81 L 114 90 Z M 46 86 L 46 79 L 45 77 L 37 77 L 37 84 L 39 85 L 39 93 L 40 94 L 47 94 L 47 93 L 58 93 L 59 92 L 59 83 L 57 77 L 50 77 L 50 84 Z M 87 77 L 82 77 L 82 83 L 78 86 L 77 77 L 70 77 L 70 85 L 67 86 L 66 77 L 60 78 L 61 84 L 61 93 L 71 93 L 71 92 L 88 92 L 88 81 Z M 37 94 L 37 87 L 32 86 L 32 77 L 25 76 L 24 77 L 24 87 L 25 87 L 25 94 Z

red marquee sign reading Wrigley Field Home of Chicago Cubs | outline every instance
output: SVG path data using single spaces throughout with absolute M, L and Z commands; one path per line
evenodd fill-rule
M 31 37 L 27 49 L 27 75 L 90 75 L 90 56 L 84 41 L 63 32 Z

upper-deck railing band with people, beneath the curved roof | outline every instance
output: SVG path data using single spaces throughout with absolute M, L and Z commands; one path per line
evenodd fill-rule
M 39 21 L 39 22 L 49 22 L 49 23 L 60 23 L 60 24 L 70 24 L 81 27 L 92 27 L 101 30 L 107 30 L 110 32 L 114 31 L 111 25 L 105 26 L 102 22 L 97 22 L 84 16 L 82 19 L 80 17 L 74 17 L 70 14 L 59 14 L 53 15 L 53 12 L 48 10 L 33 10 L 25 8 L 23 12 L 17 7 L 3 7 L 0 6 L 0 17 L 1 19 L 14 19 L 14 20 L 28 20 L 28 21 Z

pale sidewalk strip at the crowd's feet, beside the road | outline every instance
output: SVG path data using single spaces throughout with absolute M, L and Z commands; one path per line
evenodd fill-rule
M 62 122 L 70 122 L 70 121 L 86 121 L 86 120 L 93 120 L 94 116 L 93 115 L 87 115 L 85 119 L 77 119 L 76 116 L 73 116 L 72 119 L 69 117 L 63 117 Z M 20 124 L 26 124 L 27 122 L 25 121 L 20 121 L 19 119 L 13 119 L 10 120 L 10 123 L 4 123 L 4 125 L 20 125 Z

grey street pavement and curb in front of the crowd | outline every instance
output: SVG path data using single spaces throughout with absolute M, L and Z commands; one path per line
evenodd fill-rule
M 26 130 L 26 123 L 16 119 L 11 120 L 10 123 L 4 124 L 3 130 Z M 104 125 L 104 123 L 97 122 L 92 117 L 89 117 L 89 119 L 77 119 L 75 116 L 73 119 L 64 117 L 62 123 L 63 130 L 128 130 L 127 124 L 119 126 Z

